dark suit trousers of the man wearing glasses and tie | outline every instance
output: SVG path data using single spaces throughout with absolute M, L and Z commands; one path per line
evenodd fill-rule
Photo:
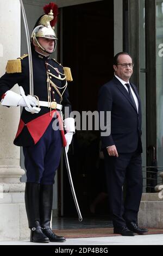
M 118 154 L 109 156 L 105 151 L 105 172 L 108 185 L 109 205 L 114 227 L 137 223 L 142 196 L 141 154 Z M 126 184 L 126 198 L 123 199 L 123 185 Z

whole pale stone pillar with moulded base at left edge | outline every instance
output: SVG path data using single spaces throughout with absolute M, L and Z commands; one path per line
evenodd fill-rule
M 20 56 L 21 8 L 19 0 L 0 3 L 0 76 L 8 59 Z M 18 92 L 18 86 L 13 90 Z M 14 140 L 20 107 L 0 104 L 0 241 L 26 239 L 29 229 L 24 205 L 24 185 L 20 182 L 24 170 L 20 167 L 20 148 Z

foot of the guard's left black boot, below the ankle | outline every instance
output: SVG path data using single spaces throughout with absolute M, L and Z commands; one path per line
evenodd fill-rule
M 48 237 L 43 234 L 41 228 L 32 228 L 30 231 L 30 242 L 34 243 L 48 243 Z

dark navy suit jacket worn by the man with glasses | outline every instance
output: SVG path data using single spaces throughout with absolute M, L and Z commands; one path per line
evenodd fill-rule
M 142 153 L 141 144 L 141 101 L 137 89 L 131 84 L 139 101 L 139 113 L 135 108 L 129 93 L 123 84 L 114 77 L 99 90 L 98 111 L 104 113 L 106 126 L 106 111 L 111 111 L 111 133 L 101 136 L 102 148 L 115 145 L 118 153 Z

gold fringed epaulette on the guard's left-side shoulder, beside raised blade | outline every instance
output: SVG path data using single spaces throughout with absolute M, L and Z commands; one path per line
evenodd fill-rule
M 5 68 L 7 74 L 21 73 L 22 72 L 21 59 L 24 59 L 27 56 L 28 54 L 23 54 L 21 57 L 17 59 L 8 60 L 7 66 Z

